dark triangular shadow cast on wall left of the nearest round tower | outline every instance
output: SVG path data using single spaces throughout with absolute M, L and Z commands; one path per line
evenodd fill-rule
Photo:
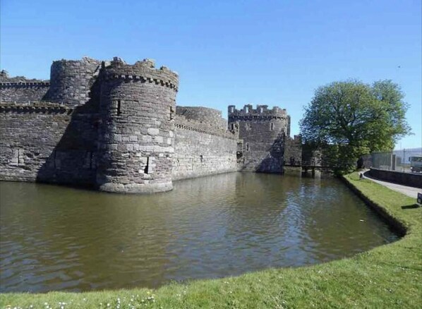
M 93 83 L 87 103 L 73 109 L 59 143 L 42 164 L 37 181 L 73 186 L 95 186 L 100 81 Z

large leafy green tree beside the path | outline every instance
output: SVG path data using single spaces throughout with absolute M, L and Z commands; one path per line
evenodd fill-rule
M 349 80 L 319 87 L 300 122 L 302 138 L 322 147 L 334 169 L 350 171 L 361 155 L 390 151 L 411 132 L 403 98 L 391 80 L 373 85 Z

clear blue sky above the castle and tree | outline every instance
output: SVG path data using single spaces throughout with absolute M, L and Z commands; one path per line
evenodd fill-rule
M 180 75 L 179 105 L 303 107 L 334 80 L 401 85 L 422 146 L 421 0 L 28 1 L 2 0 L 0 65 L 49 78 L 57 59 L 157 61 Z

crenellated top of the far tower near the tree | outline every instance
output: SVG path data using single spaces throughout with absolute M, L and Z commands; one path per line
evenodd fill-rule
M 286 119 L 287 111 L 279 107 L 268 109 L 268 105 L 257 105 L 256 109 L 253 109 L 252 104 L 246 104 L 243 109 L 236 109 L 236 106 L 229 105 L 228 115 L 234 119 Z

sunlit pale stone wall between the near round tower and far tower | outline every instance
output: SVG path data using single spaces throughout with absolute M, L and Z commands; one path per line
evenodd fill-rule
M 175 120 L 174 180 L 237 170 L 238 132 L 180 115 Z

